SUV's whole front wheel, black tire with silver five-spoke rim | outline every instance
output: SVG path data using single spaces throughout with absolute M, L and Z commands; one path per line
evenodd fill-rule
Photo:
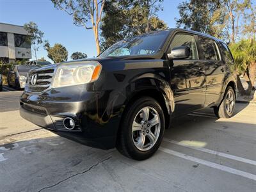
M 132 159 L 148 159 L 163 140 L 164 113 L 155 99 L 141 97 L 125 110 L 120 125 L 117 150 Z

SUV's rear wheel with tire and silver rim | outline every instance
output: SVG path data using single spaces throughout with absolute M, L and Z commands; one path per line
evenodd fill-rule
M 228 86 L 220 106 L 218 107 L 216 106 L 213 108 L 214 113 L 218 118 L 230 118 L 232 115 L 234 115 L 235 105 L 236 105 L 235 92 L 231 86 Z

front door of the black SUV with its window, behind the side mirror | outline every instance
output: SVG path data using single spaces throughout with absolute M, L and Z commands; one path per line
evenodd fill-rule
M 196 36 L 190 33 L 177 33 L 168 52 L 174 47 L 183 45 L 190 48 L 189 58 L 171 61 L 171 88 L 175 97 L 173 114 L 175 116 L 200 109 L 205 101 L 204 63 L 199 61 Z

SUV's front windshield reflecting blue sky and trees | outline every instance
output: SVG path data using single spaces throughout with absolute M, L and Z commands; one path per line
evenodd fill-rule
M 127 38 L 112 45 L 100 57 L 155 54 L 161 48 L 170 31 L 155 31 Z

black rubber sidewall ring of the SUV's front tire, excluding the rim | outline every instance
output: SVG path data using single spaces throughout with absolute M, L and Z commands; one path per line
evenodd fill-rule
M 140 111 L 140 109 L 145 108 L 147 106 L 156 109 L 160 117 L 161 128 L 159 137 L 157 138 L 155 145 L 147 151 L 141 151 L 134 145 L 134 142 L 132 140 L 132 122 L 137 113 Z M 129 109 L 129 111 L 127 111 L 127 114 L 125 115 L 125 118 L 126 120 L 124 120 L 123 124 L 125 139 L 124 144 L 126 146 L 127 152 L 129 153 L 129 156 L 137 160 L 147 159 L 148 157 L 152 156 L 159 148 L 161 141 L 163 140 L 165 124 L 164 113 L 163 110 L 161 109 L 161 106 L 155 99 L 152 99 L 150 97 L 144 97 L 134 102 L 134 104 L 132 104 L 131 108 Z

